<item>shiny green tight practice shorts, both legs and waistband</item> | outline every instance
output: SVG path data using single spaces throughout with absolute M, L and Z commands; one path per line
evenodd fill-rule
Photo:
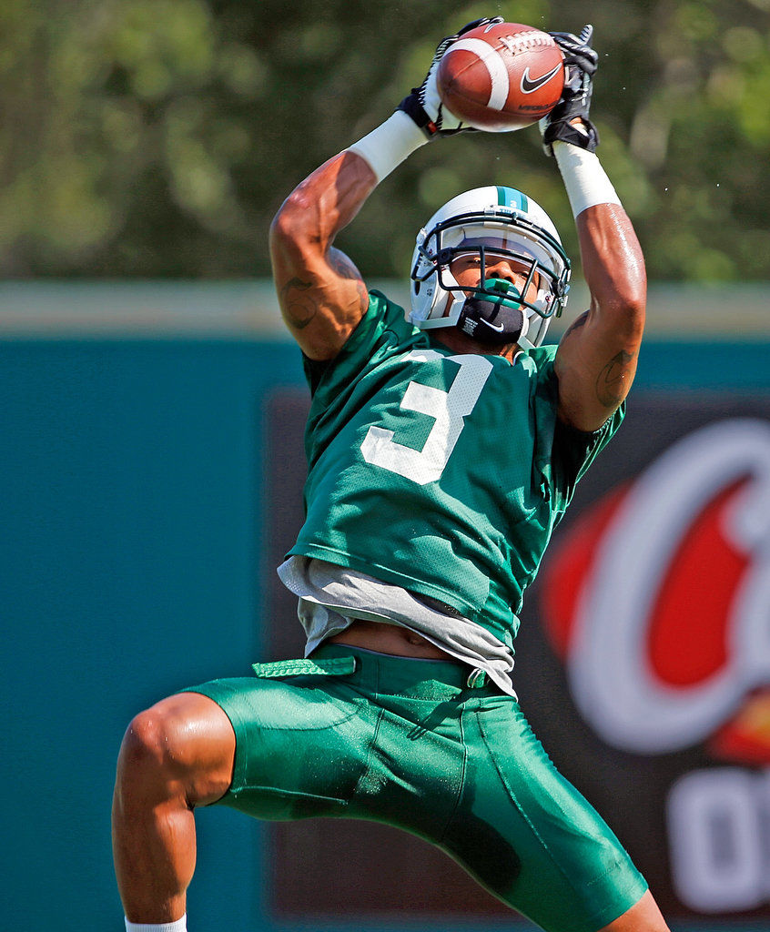
M 647 889 L 558 774 L 516 699 L 466 665 L 342 645 L 200 692 L 236 733 L 220 801 L 260 819 L 373 819 L 438 845 L 553 932 L 596 932 Z

